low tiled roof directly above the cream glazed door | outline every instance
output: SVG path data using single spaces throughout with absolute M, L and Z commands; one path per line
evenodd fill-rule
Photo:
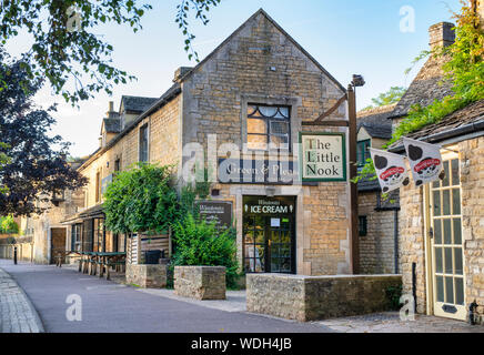
M 468 133 L 482 132 L 484 134 L 484 100 L 448 114 L 437 123 L 425 125 L 419 131 L 406 134 L 407 138 L 430 143 L 441 142 Z M 391 151 L 403 150 L 402 140 L 390 146 Z

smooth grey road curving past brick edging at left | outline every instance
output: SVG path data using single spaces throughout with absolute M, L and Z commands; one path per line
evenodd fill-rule
M 19 264 L 0 260 L 28 294 L 46 332 L 183 332 L 183 333 L 309 333 L 331 332 L 314 324 L 224 312 L 142 293 L 132 287 L 54 266 Z M 69 322 L 69 295 L 82 300 L 82 321 Z

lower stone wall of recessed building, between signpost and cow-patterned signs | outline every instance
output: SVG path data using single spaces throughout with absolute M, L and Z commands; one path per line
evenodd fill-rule
M 366 216 L 367 233 L 360 236 L 362 274 L 395 273 L 395 211 L 375 211 L 376 192 L 359 193 L 359 215 Z

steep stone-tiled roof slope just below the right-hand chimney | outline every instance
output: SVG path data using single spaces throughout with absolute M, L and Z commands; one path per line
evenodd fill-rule
M 445 58 L 437 58 L 435 55 L 426 61 L 409 90 L 397 103 L 391 119 L 407 115 L 414 104 L 419 103 L 422 106 L 427 106 L 435 100 L 442 100 L 453 94 L 452 83 L 444 80 L 442 67 L 445 62 Z

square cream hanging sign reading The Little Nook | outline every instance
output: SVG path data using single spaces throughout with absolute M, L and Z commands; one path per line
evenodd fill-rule
M 346 181 L 344 133 L 300 133 L 302 181 Z

